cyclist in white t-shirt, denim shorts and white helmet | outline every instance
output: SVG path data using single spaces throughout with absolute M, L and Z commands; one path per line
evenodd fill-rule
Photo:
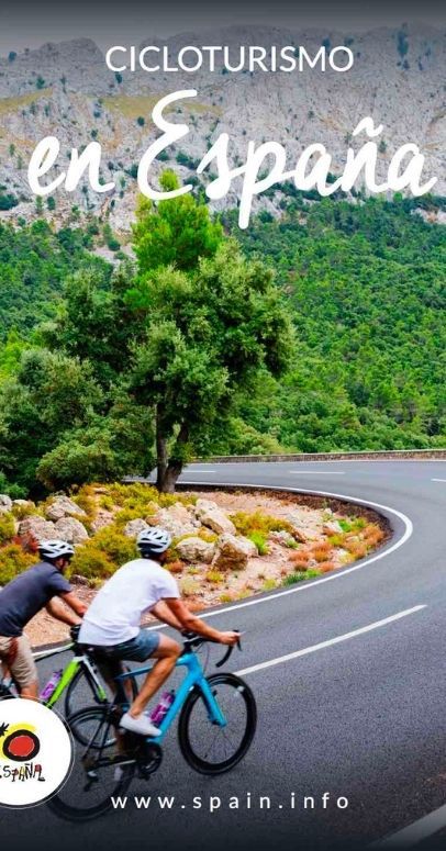
M 142 736 L 159 734 L 144 709 L 170 675 L 181 653 L 177 641 L 141 628 L 143 614 L 150 612 L 175 629 L 192 630 L 222 645 L 235 645 L 238 638 L 237 632 L 221 632 L 208 626 L 180 600 L 174 576 L 161 567 L 170 544 L 171 535 L 156 526 L 138 535 L 142 558 L 120 568 L 99 591 L 83 616 L 78 639 L 81 645 L 100 649 L 108 663 L 144 662 L 149 657 L 157 660 L 121 719 L 124 729 Z M 120 665 L 116 673 L 119 671 Z

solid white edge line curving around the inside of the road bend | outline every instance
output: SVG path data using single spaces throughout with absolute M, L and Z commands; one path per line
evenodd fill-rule
M 197 485 L 200 484 L 200 482 L 183 482 L 183 484 L 188 485 Z M 221 482 L 223 484 L 223 482 Z M 268 491 L 283 491 L 283 488 L 272 486 L 272 485 L 264 485 L 264 484 L 233 484 L 230 482 L 224 482 L 224 484 L 228 485 L 230 488 L 254 488 L 259 491 L 261 490 L 268 490 Z M 299 582 L 297 587 L 287 589 L 287 591 L 277 591 L 272 592 L 271 594 L 268 594 L 268 596 L 261 596 L 257 597 L 256 600 L 247 600 L 244 603 L 236 603 L 232 606 L 225 606 L 225 608 L 219 608 L 216 612 L 203 612 L 200 613 L 201 618 L 209 618 L 209 617 L 218 617 L 219 615 L 223 615 L 225 612 L 235 612 L 237 608 L 247 608 L 248 606 L 258 606 L 261 603 L 270 603 L 271 601 L 278 600 L 278 597 L 285 597 L 289 594 L 299 594 L 303 591 L 311 591 L 312 589 L 316 587 L 317 585 L 322 585 L 324 582 L 333 582 L 333 580 L 343 579 L 343 576 L 346 576 L 348 573 L 354 573 L 357 570 L 363 570 L 363 568 L 366 568 L 368 564 L 371 564 L 373 561 L 379 561 L 380 559 L 384 559 L 387 556 L 390 556 L 391 552 L 394 552 L 400 547 L 405 544 L 409 538 L 412 536 L 413 533 L 413 524 L 412 520 L 402 512 L 397 511 L 397 508 L 389 508 L 388 505 L 380 505 L 378 502 L 369 502 L 368 500 L 360 500 L 358 496 L 346 496 L 345 494 L 341 493 L 330 493 L 328 491 L 308 491 L 303 488 L 286 488 L 289 493 L 309 493 L 311 495 L 316 496 L 333 496 L 337 500 L 346 500 L 347 502 L 355 503 L 357 505 L 370 505 L 372 508 L 381 508 L 383 511 L 389 512 L 390 514 L 394 514 L 395 517 L 398 517 L 402 523 L 404 524 L 404 534 L 397 540 L 394 544 L 392 544 L 391 547 L 383 550 L 382 552 L 378 552 L 376 556 L 371 556 L 369 559 L 365 559 L 360 562 L 360 564 L 356 564 L 354 568 L 343 568 L 338 571 L 333 571 L 330 575 L 324 576 L 323 579 L 314 579 L 310 580 L 308 582 Z M 156 629 L 157 627 L 149 627 L 152 629 Z

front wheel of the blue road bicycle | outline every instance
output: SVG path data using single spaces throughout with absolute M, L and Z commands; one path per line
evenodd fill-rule
M 249 749 L 257 726 L 257 708 L 249 686 L 235 674 L 208 676 L 208 683 L 225 718 L 225 726 L 210 720 L 203 693 L 187 698 L 178 723 L 181 752 L 200 774 L 223 774 Z

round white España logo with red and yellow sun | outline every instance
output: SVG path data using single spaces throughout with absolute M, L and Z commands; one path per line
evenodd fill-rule
M 68 777 L 70 736 L 54 712 L 21 698 L 0 703 L 0 806 L 30 807 Z

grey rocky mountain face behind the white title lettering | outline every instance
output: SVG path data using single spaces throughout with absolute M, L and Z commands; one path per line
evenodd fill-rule
M 0 215 L 30 221 L 41 212 L 26 178 L 31 152 L 41 138 L 58 137 L 59 170 L 68 165 L 71 147 L 97 139 L 102 145 L 103 181 L 113 179 L 115 190 L 94 193 L 87 182 L 74 193 L 59 189 L 55 206 L 49 202 L 53 209 L 43 200 L 44 214 L 56 221 L 88 212 L 110 215 L 113 227 L 127 229 L 137 190 L 135 165 L 159 133 L 152 109 L 161 96 L 181 88 L 199 92 L 194 101 L 183 101 L 171 112 L 172 119 L 177 115 L 188 123 L 190 133 L 167 152 L 168 160 L 156 164 L 154 173 L 170 165 L 182 179 L 189 178 L 223 132 L 231 136 L 235 164 L 245 160 L 248 139 L 283 144 L 290 168 L 304 147 L 322 142 L 333 156 L 333 172 L 341 173 L 352 131 L 371 115 L 376 124 L 384 125 L 379 176 L 384 176 L 398 147 L 414 142 L 426 156 L 426 175 L 439 178 L 434 191 L 445 194 L 445 32 L 420 25 L 360 35 L 228 27 L 199 36 L 181 34 L 165 43 L 176 56 L 186 44 L 224 44 L 234 55 L 241 44 L 304 45 L 315 54 L 322 41 L 349 45 L 354 67 L 346 74 L 309 68 L 301 74 L 225 74 L 219 68 L 213 74 L 115 75 L 88 38 L 11 53 L 0 61 L 0 206 L 11 206 Z M 232 192 L 225 203 L 235 201 Z M 275 210 L 274 200 L 263 203 Z

